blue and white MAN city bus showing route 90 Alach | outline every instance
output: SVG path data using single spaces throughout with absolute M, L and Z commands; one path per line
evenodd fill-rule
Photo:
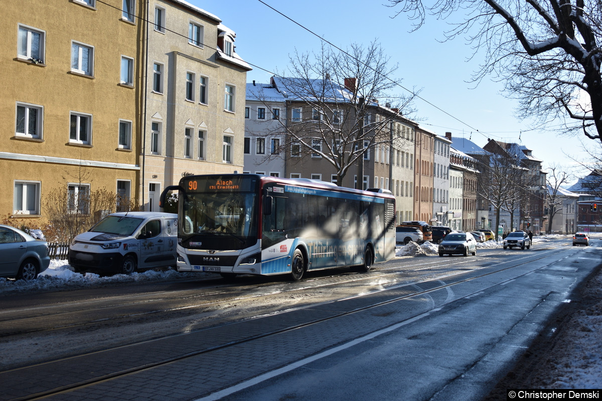
M 395 254 L 395 198 L 308 179 L 185 176 L 178 191 L 178 271 L 289 274 L 359 266 Z

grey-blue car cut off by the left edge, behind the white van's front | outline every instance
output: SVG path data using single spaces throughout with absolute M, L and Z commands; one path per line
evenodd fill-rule
M 48 243 L 0 224 L 0 277 L 34 280 L 50 265 Z

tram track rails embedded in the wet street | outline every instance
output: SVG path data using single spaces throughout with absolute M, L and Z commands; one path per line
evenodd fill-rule
M 327 304 L 334 304 L 337 302 L 341 302 L 341 301 L 346 301 L 349 299 L 358 299 L 358 298 L 364 298 L 364 299 L 368 299 L 367 297 L 370 295 L 374 295 L 377 292 L 393 292 L 395 290 L 399 290 L 399 289 L 411 289 L 414 288 L 414 290 L 411 290 L 403 295 L 400 296 L 393 296 L 393 298 L 387 298 L 387 299 L 383 299 L 382 301 L 378 301 L 378 302 L 368 302 L 365 305 L 362 305 L 361 307 L 357 307 L 357 308 L 352 308 L 350 310 L 345 310 L 345 311 L 341 311 L 338 313 L 331 313 L 326 317 L 323 317 L 321 319 L 314 319 L 314 320 L 307 320 L 304 321 L 302 323 L 298 323 L 298 324 L 294 324 L 294 325 L 287 325 L 287 326 L 282 326 L 282 328 L 273 330 L 273 331 L 265 331 L 265 332 L 261 332 L 258 334 L 250 334 L 247 335 L 244 338 L 240 338 L 238 340 L 235 341 L 224 341 L 222 343 L 219 344 L 214 344 L 213 346 L 207 346 L 207 347 L 203 347 L 202 349 L 197 349 L 197 350 L 193 350 L 191 352 L 183 352 L 182 354 L 179 355 L 173 355 L 171 357 L 168 358 L 160 358 L 160 360 L 156 360 L 153 361 L 152 363 L 144 363 L 141 364 L 140 366 L 131 366 L 131 367 L 127 367 L 126 369 L 122 369 L 122 370 L 118 370 L 116 372 L 110 372 L 104 375 L 99 375 L 95 378 L 92 379 L 87 379 L 87 380 L 82 380 L 82 381 L 73 381 L 70 384 L 67 385 L 61 385 L 55 388 L 49 388 L 46 391 L 39 391 L 35 394 L 28 394 L 26 396 L 22 396 L 22 397 L 18 397 L 15 398 L 13 400 L 17 401 L 21 401 L 21 400 L 37 400 L 37 399 L 43 399 L 45 397 L 51 397 L 54 396 L 56 394 L 61 394 L 64 393 L 66 391 L 72 391 L 75 390 L 77 388 L 81 388 L 84 386 L 89 386 L 89 385 L 93 385 L 102 381 L 107 381 L 107 380 L 111 380 L 111 379 L 115 379 L 115 378 L 120 378 L 126 375 L 131 375 L 132 373 L 136 373 L 136 372 L 141 372 L 143 370 L 147 370 L 147 369 L 155 369 L 158 367 L 163 367 L 163 366 L 167 366 L 169 364 L 173 364 L 176 363 L 178 361 L 182 361 L 182 360 L 186 360 L 187 358 L 194 358 L 194 357 L 198 357 L 199 355 L 203 355 L 209 352 L 214 352 L 216 350 L 222 350 L 222 349 L 227 349 L 228 347 L 236 347 L 236 346 L 241 346 L 242 344 L 246 344 L 249 343 L 251 341 L 255 341 L 255 340 L 259 340 L 261 338 L 266 338 L 266 337 L 270 337 L 272 335 L 279 335 L 279 334 L 283 334 L 285 332 L 290 332 L 296 329 L 300 329 L 300 328 L 304 328 L 304 327 L 308 327 L 311 325 L 315 325 L 318 323 L 324 323 L 327 322 L 329 320 L 332 319 L 339 319 L 341 317 L 344 316 L 349 316 L 350 314 L 354 314 L 354 313 L 359 313 L 361 311 L 369 311 L 369 310 L 375 310 L 376 308 L 382 307 L 383 305 L 386 304 L 390 304 L 393 302 L 399 302 L 399 301 L 403 301 L 404 299 L 408 299 L 408 298 L 412 298 L 412 297 L 417 297 L 417 296 L 423 296 L 423 295 L 428 295 L 429 293 L 432 292 L 436 292 L 438 290 L 441 289 L 445 289 L 445 288 L 452 288 L 454 286 L 458 286 L 462 283 L 467 283 L 468 281 L 471 280 L 477 280 L 479 278 L 483 278 L 486 277 L 488 275 L 493 275 L 493 274 L 498 274 L 500 272 L 504 272 L 504 271 L 509 271 L 510 269 L 514 269 L 514 268 L 518 268 L 518 267 L 524 267 L 525 265 L 529 264 L 529 263 L 533 263 L 542 259 L 545 259 L 547 257 L 550 256 L 554 256 L 555 254 L 559 253 L 560 250 L 550 250 L 550 251 L 545 251 L 544 253 L 541 253 L 539 255 L 537 255 L 536 257 L 532 257 L 532 254 L 530 255 L 525 255 L 525 256 L 521 256 L 517 262 L 517 259 L 515 259 L 512 263 L 512 266 L 506 266 L 503 267 L 501 265 L 505 265 L 507 264 L 507 262 L 499 262 L 499 263 L 494 263 L 494 265 L 488 265 L 488 266 L 482 266 L 479 268 L 474 268 L 474 269 L 463 269 L 463 270 L 459 270 L 459 271 L 454 271 L 454 272 L 449 272 L 447 275 L 440 275 L 436 278 L 428 278 L 425 280 L 415 280 L 415 281 L 406 281 L 406 282 L 400 282 L 398 284 L 396 284 L 395 286 L 391 286 L 391 287 L 386 287 L 383 289 L 378 289 L 378 290 L 373 290 L 372 292 L 368 292 L 368 293 L 362 293 L 361 295 L 355 295 L 355 296 L 350 296 L 347 298 L 341 298 L 341 299 L 334 299 L 332 301 L 329 302 L 322 302 L 321 304 L 313 304 L 311 306 L 305 306 L 305 307 L 299 307 L 299 308 L 290 308 L 284 311 L 277 311 L 274 313 L 270 313 L 270 314 L 265 314 L 265 315 L 261 315 L 261 316 L 256 316 L 255 319 L 263 319 L 265 317 L 268 316 L 278 316 L 279 314 L 285 314 L 285 313 L 291 313 L 293 311 L 298 311 L 302 308 L 308 308 L 308 307 L 320 307 L 320 306 L 324 306 Z M 452 262 L 452 261 L 450 261 Z M 452 264 L 456 265 L 456 264 L 460 264 L 460 265 L 464 265 L 467 261 L 466 260 L 461 260 L 461 261 L 453 261 Z M 437 264 L 438 266 L 441 266 L 440 263 Z M 501 267 L 501 268 L 500 268 Z M 536 271 L 538 269 L 542 269 L 545 266 L 539 267 L 539 268 L 533 268 L 530 271 L 524 272 L 521 275 L 525 275 L 525 274 L 530 274 L 533 271 Z M 389 268 L 387 268 L 388 270 Z M 391 269 L 393 269 L 393 267 L 391 267 Z M 429 269 L 429 267 L 421 267 L 421 268 L 415 268 L 415 269 L 408 269 L 405 272 L 410 272 L 410 271 L 414 271 L 414 272 L 420 272 L 423 271 L 424 269 Z M 483 269 L 487 269 L 486 271 L 482 271 Z M 472 273 L 472 274 L 470 274 Z M 476 274 L 475 274 L 476 273 Z M 391 273 L 392 274 L 392 273 Z M 465 277 L 466 274 L 470 274 L 470 277 Z M 386 275 L 388 274 L 383 274 L 380 272 L 379 269 L 379 274 L 378 275 L 370 275 L 371 277 L 366 277 L 364 275 L 364 277 L 366 279 L 371 279 L 374 280 L 376 278 L 379 278 L 380 276 L 382 277 L 386 277 Z M 457 280 L 450 280 L 451 277 L 453 276 L 462 276 L 462 277 L 458 277 Z M 361 276 L 361 275 L 360 275 Z M 329 277 L 335 277 L 335 276 L 329 276 Z M 517 276 L 518 277 L 518 276 Z M 423 289 L 423 290 L 417 290 L 416 288 L 420 286 L 420 284 L 426 284 L 426 283 L 433 283 L 434 281 L 441 281 L 443 279 L 448 279 L 450 280 L 448 283 L 443 283 L 443 284 L 437 284 L 437 285 L 433 285 L 430 287 L 427 287 L 427 289 Z M 314 279 L 311 279 L 314 280 Z M 348 280 L 348 281 L 358 281 L 359 279 L 354 279 L 354 280 Z M 515 278 L 512 278 L 512 280 L 515 280 Z M 319 281 L 319 280 L 318 280 Z M 500 281 L 497 282 L 495 284 L 492 284 L 492 286 L 498 286 L 501 283 L 503 283 L 504 281 Z M 323 284 L 322 287 L 326 287 L 326 286 L 333 286 L 336 283 L 329 283 L 329 284 Z M 270 286 L 272 285 L 282 285 L 282 283 L 279 284 L 270 284 Z M 312 286 L 311 288 L 316 288 L 316 286 Z M 298 289 L 297 289 L 298 290 Z M 479 291 L 482 291 L 483 289 L 480 288 Z M 474 295 L 474 293 L 471 293 L 469 295 L 465 295 L 464 298 L 466 298 L 467 296 L 472 296 Z M 386 297 L 385 297 L 386 298 Z M 438 307 L 441 307 L 441 305 L 437 305 Z M 228 322 L 228 323 L 224 323 L 223 326 L 226 325 L 231 325 L 234 324 L 233 322 Z M 218 328 L 219 326 L 213 326 L 213 329 Z M 199 329 L 196 332 L 202 332 L 202 331 L 206 331 L 207 328 L 202 328 Z M 161 338 L 161 340 L 167 340 L 169 338 L 175 338 L 178 337 L 181 334 L 176 334 L 176 335 L 172 335 L 172 336 L 166 336 L 164 338 Z M 157 341 L 157 340 L 153 340 L 153 341 Z M 126 347 L 131 347 L 131 346 L 137 346 L 143 343 L 149 343 L 150 341 L 140 341 L 139 343 L 132 343 L 129 344 L 128 346 L 125 347 L 118 347 L 116 350 L 118 351 L 119 349 L 125 349 Z M 104 352 L 110 352 L 112 350 L 105 350 Z M 87 357 L 93 357 L 93 355 L 98 354 L 98 352 L 92 352 L 89 354 L 82 354 L 82 355 L 78 355 L 77 357 L 74 358 L 87 358 Z M 56 363 L 61 363 L 61 361 L 64 362 L 68 362 L 69 360 L 73 360 L 73 358 L 68 358 L 65 360 L 58 360 L 58 361 L 53 361 L 51 363 L 41 363 L 41 364 L 35 364 L 33 366 L 28 366 L 28 367 L 22 367 L 19 369 L 13 369 L 13 370 L 7 370 L 5 372 L 0 372 L 0 381 L 4 381 L 4 378 L 10 375 L 20 375 L 20 373 L 25 373 L 26 370 L 31 370 L 31 369 L 48 369 L 48 367 L 51 367 L 52 364 L 56 364 Z M 4 377 L 3 377 L 4 376 Z M 0 397 L 0 399 L 2 399 Z

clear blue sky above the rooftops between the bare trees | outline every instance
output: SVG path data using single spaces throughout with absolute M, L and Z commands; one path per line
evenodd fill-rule
M 501 84 L 485 80 L 473 88 L 474 84 L 467 82 L 482 59 L 477 56 L 467 61 L 472 49 L 461 38 L 439 43 L 449 28 L 445 22 L 430 17 L 422 28 L 410 33 L 409 20 L 404 15 L 392 19 L 394 9 L 383 5 L 386 0 L 264 0 L 285 16 L 257 0 L 187 1 L 215 14 L 236 32 L 236 51 L 257 66 L 247 73 L 247 82 L 268 82 L 272 72 L 284 72 L 295 49 L 301 53 L 320 50 L 320 39 L 287 16 L 341 48 L 350 43 L 380 42 L 391 63 L 399 63 L 398 78 L 403 78 L 404 87 L 422 89 L 420 97 L 428 103 L 420 99 L 415 103 L 421 126 L 439 135 L 450 131 L 480 146 L 487 138 L 517 142 L 532 149 L 544 167 L 573 164 L 563 151 L 585 161 L 588 155 L 581 142 L 590 148 L 597 145 L 585 136 L 559 137 L 530 130 L 529 121 L 514 117 L 518 103 L 501 96 Z

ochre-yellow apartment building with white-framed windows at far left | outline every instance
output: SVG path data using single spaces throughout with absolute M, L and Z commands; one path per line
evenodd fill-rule
M 72 211 L 95 212 L 76 200 L 101 188 L 137 201 L 140 4 L 2 2 L 2 219 L 44 224 L 45 197 L 64 186 Z

